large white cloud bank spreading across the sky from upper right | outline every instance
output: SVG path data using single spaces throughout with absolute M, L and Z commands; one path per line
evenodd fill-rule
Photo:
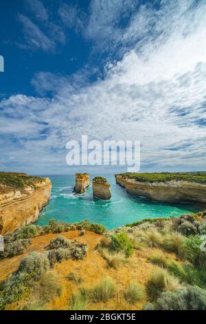
M 42 72 L 33 84 L 52 92 L 53 99 L 14 96 L 3 101 L 3 118 L 16 105 L 22 124 L 36 125 L 37 139 L 28 138 L 27 129 L 17 136 L 25 164 L 26 152 L 42 152 L 49 170 L 54 163 L 64 165 L 67 141 L 88 134 L 89 139 L 141 141 L 144 170 L 205 168 L 206 6 L 193 3 L 161 1 L 158 11 L 150 6 L 134 12 L 122 38 L 124 50 L 127 43 L 133 48 L 121 61 L 108 61 L 104 80 L 90 84 L 82 73 L 61 77 Z

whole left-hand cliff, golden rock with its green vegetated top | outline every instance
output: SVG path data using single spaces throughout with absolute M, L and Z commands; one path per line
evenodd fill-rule
M 0 172 L 0 234 L 37 221 L 51 189 L 48 178 Z

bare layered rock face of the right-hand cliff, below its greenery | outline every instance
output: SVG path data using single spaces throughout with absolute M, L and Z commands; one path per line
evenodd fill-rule
M 144 196 L 155 201 L 196 201 L 206 203 L 206 185 L 186 181 L 168 183 L 138 182 L 115 174 L 116 183 L 130 194 Z

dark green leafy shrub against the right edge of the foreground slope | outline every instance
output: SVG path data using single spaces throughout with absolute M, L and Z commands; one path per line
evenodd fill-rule
M 183 247 L 185 252 L 185 259 L 190 261 L 194 266 L 205 269 L 206 252 L 201 251 L 202 243 L 203 240 L 201 240 L 200 235 L 190 236 L 185 240 Z

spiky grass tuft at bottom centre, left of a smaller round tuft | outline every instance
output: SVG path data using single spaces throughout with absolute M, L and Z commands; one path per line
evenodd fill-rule
M 106 303 L 106 301 L 115 296 L 116 291 L 117 288 L 113 279 L 106 277 L 105 279 L 102 279 L 99 285 L 91 288 L 89 291 L 89 298 L 91 298 L 91 301 L 94 303 L 100 301 Z

